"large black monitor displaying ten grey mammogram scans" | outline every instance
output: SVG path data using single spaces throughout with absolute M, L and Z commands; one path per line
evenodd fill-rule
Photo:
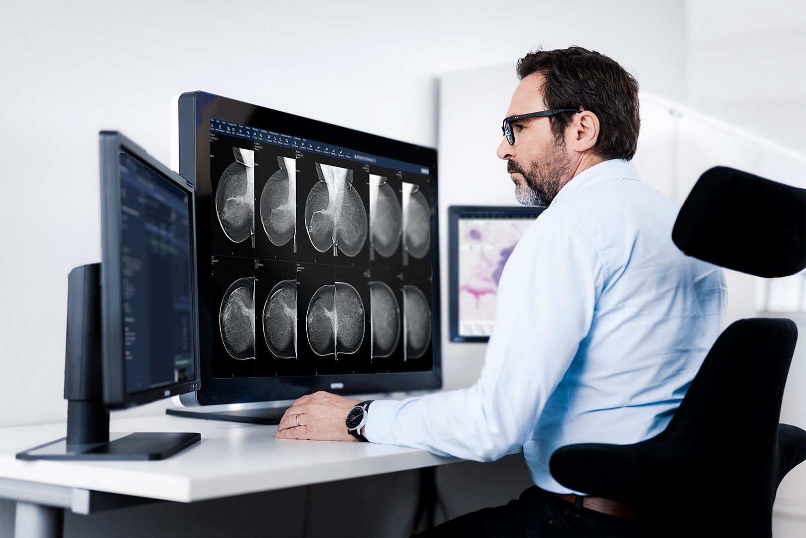
M 434 149 L 181 96 L 199 403 L 441 386 L 436 161 Z

